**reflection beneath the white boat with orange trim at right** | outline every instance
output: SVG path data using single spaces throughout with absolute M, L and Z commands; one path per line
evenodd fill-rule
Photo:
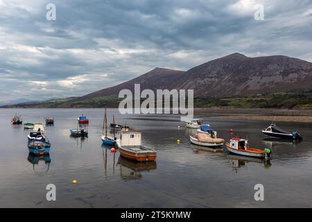
M 270 167 L 272 166 L 270 160 L 259 159 L 255 157 L 245 157 L 241 155 L 228 154 L 227 159 L 229 160 L 229 163 L 232 165 L 232 168 L 236 171 L 236 173 L 240 168 L 245 167 L 248 162 L 263 164 L 263 167 L 265 169 L 270 169 Z

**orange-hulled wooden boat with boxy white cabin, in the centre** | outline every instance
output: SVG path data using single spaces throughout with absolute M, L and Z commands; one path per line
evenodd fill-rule
M 156 151 L 141 144 L 141 132 L 134 130 L 121 130 L 116 140 L 122 157 L 137 162 L 156 160 Z

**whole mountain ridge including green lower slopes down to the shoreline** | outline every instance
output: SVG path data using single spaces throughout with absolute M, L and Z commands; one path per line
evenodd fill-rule
M 117 108 L 122 89 L 193 89 L 194 108 L 291 108 L 312 110 L 312 63 L 288 56 L 250 58 L 234 53 L 188 71 L 156 68 L 114 87 L 81 97 L 6 108 Z M 142 99 L 144 101 L 144 99 Z

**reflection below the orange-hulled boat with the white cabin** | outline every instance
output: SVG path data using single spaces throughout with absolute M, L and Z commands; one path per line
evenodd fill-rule
M 155 161 L 134 162 L 122 156 L 119 156 L 118 164 L 120 166 L 121 178 L 125 181 L 140 179 L 142 177 L 142 172 L 149 172 L 157 169 Z

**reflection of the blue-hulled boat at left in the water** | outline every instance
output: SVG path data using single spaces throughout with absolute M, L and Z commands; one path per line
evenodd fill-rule
M 48 173 L 51 163 L 51 158 L 49 154 L 33 155 L 32 153 L 29 153 L 27 160 L 28 162 L 33 164 L 33 171 L 37 173 L 39 176 L 44 176 L 44 174 Z M 44 167 L 41 166 L 43 163 Z

